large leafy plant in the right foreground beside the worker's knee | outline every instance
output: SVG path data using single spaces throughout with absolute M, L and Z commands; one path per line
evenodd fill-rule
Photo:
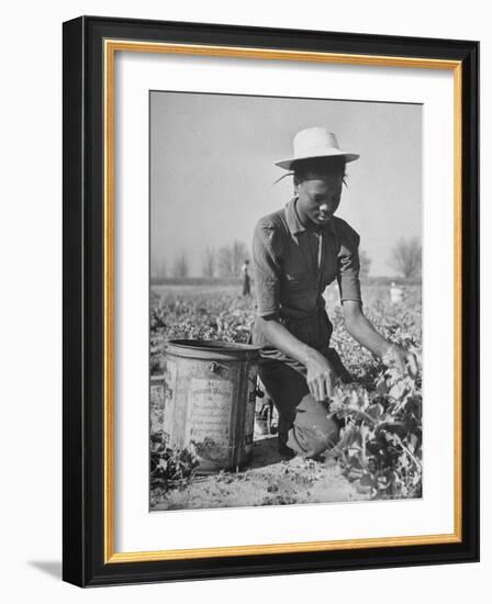
M 382 370 L 370 391 L 335 389 L 331 416 L 342 423 L 329 455 L 359 492 L 373 499 L 422 496 L 422 396 L 418 380 Z

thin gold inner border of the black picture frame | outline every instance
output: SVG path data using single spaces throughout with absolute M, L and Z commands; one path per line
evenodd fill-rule
M 446 69 L 454 71 L 454 500 L 455 529 L 450 534 L 378 537 L 332 541 L 300 541 L 197 549 L 169 549 L 155 551 L 116 552 L 114 550 L 114 59 L 116 52 L 165 53 L 202 55 L 228 58 L 256 58 L 295 61 L 332 63 L 344 65 Z M 309 551 L 335 551 L 377 547 L 401 547 L 461 543 L 462 540 L 462 425 L 461 425 L 461 347 L 462 347 L 462 236 L 461 236 L 461 183 L 462 183 L 462 65 L 459 60 L 427 59 L 418 57 L 391 57 L 379 55 L 353 55 L 339 53 L 280 51 L 276 48 L 247 48 L 200 44 L 171 44 L 136 42 L 131 40 L 104 40 L 104 563 L 144 562 L 158 560 L 185 560 L 230 556 L 259 556 L 268 553 L 294 553 Z

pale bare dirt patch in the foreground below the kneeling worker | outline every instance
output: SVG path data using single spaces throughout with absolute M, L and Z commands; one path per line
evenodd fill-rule
M 244 471 L 195 476 L 189 484 L 167 492 L 153 492 L 152 511 L 199 510 L 331 503 L 367 500 L 355 483 L 326 458 L 321 461 L 277 451 L 277 437 L 256 435 L 253 461 Z

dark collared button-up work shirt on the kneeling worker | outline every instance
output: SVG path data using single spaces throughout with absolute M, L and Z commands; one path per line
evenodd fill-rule
M 304 318 L 325 306 L 323 291 L 335 279 L 340 300 L 361 302 L 359 235 L 333 216 L 315 232 L 300 221 L 293 198 L 260 219 L 253 237 L 257 314 Z

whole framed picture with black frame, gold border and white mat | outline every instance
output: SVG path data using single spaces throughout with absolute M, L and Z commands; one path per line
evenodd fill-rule
M 478 65 L 64 24 L 64 580 L 479 559 Z

